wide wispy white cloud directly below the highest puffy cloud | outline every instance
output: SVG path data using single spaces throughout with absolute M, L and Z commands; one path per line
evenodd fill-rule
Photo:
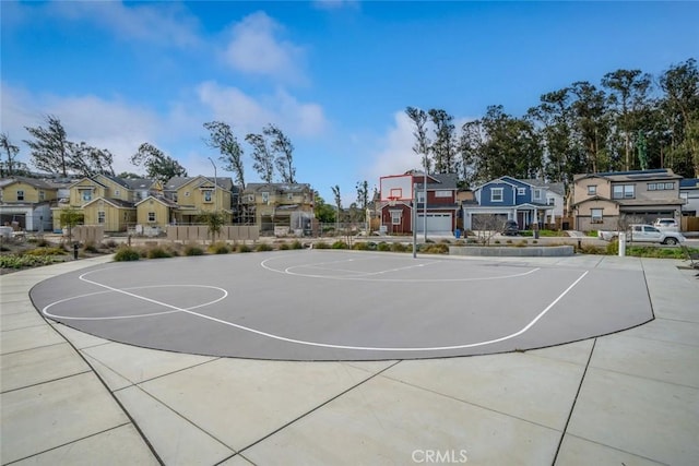
M 312 138 L 328 127 L 320 105 L 300 103 L 283 89 L 254 98 L 237 87 L 208 81 L 197 92 L 201 103 L 211 109 L 212 118 L 233 124 L 238 133 L 259 133 L 273 123 L 287 135 Z

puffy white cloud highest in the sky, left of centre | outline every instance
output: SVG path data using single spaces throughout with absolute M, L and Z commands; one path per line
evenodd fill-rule
M 272 76 L 286 82 L 303 81 L 301 47 L 276 37 L 282 26 L 264 12 L 252 13 L 232 27 L 232 39 L 223 57 L 245 73 Z

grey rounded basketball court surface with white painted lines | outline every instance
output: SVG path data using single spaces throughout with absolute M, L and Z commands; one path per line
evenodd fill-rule
M 642 271 L 332 250 L 105 264 L 31 297 L 109 340 L 277 360 L 503 353 L 653 319 Z

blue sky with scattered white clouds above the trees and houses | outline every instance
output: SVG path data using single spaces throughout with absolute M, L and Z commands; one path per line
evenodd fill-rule
M 213 176 L 203 123 L 274 123 L 296 177 L 345 206 L 355 184 L 418 168 L 405 107 L 458 123 L 521 116 L 542 94 L 617 69 L 699 58 L 696 2 L 0 2 L 1 131 L 56 115 L 117 171 L 143 142 Z M 221 169 L 218 176 L 233 176 Z

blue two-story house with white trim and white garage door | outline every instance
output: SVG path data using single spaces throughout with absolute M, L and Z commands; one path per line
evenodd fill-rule
M 555 225 L 564 214 L 560 183 L 500 177 L 474 190 L 475 202 L 463 204 L 464 229 L 493 229 L 516 220 L 520 229 Z

